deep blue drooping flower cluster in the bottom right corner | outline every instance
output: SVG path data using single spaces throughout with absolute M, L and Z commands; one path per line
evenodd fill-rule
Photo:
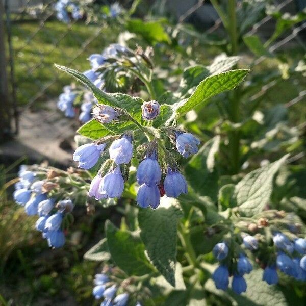
M 244 235 L 242 241 L 247 250 L 257 254 L 257 262 L 264 268 L 262 279 L 267 284 L 277 284 L 277 269 L 298 281 L 306 281 L 306 239 L 290 241 L 284 234 L 275 233 L 270 253 L 261 250 L 258 239 L 253 236 Z M 213 254 L 220 262 L 212 275 L 216 288 L 226 290 L 233 275 L 232 290 L 237 294 L 245 292 L 247 284 L 243 275 L 252 271 L 252 264 L 240 245 L 233 240 L 220 242 L 214 246 Z M 262 258 L 264 260 L 260 260 Z

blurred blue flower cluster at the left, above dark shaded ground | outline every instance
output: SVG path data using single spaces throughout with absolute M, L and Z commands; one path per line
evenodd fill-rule
M 19 182 L 15 184 L 14 200 L 24 207 L 29 216 L 38 215 L 36 230 L 42 232 L 50 247 L 59 248 L 65 244 L 63 220 L 73 209 L 71 199 L 57 202 L 55 197 L 49 197 L 57 184 L 48 180 L 40 180 L 39 174 L 30 171 L 27 166 L 21 166 Z M 65 218 L 67 220 L 67 218 Z M 69 222 L 69 221 L 68 221 Z

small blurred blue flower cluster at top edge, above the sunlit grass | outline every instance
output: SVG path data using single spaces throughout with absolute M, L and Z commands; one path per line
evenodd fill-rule
M 56 16 L 60 21 L 68 23 L 71 19 L 83 18 L 79 5 L 71 0 L 59 0 L 55 4 Z

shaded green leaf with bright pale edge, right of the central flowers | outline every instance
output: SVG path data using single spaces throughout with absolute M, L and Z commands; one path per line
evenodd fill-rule
M 217 200 L 218 172 L 214 167 L 214 156 L 219 149 L 220 137 L 216 136 L 203 145 L 185 168 L 186 179 L 200 195 Z

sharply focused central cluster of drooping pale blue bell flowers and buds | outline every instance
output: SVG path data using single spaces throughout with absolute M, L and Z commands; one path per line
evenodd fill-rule
M 144 119 L 152 120 L 159 114 L 160 106 L 157 101 L 144 102 L 142 115 Z M 97 105 L 93 109 L 94 118 L 100 123 L 110 123 L 113 120 L 121 120 L 126 115 L 122 110 L 107 105 Z M 199 140 L 190 133 L 184 133 L 176 128 L 169 128 L 169 138 L 175 144 L 177 151 L 184 157 L 195 154 L 198 151 Z M 93 143 L 84 144 L 75 150 L 73 160 L 79 162 L 83 169 L 92 168 L 101 155 L 105 156 L 106 148 L 110 159 L 101 167 L 94 177 L 89 188 L 89 196 L 99 200 L 102 198 L 118 198 L 124 189 L 123 171 L 129 172 L 130 161 L 133 156 L 132 131 L 125 134 L 102 138 Z M 168 154 L 165 161 L 158 156 L 161 148 Z M 161 151 L 161 150 L 160 150 Z M 162 163 L 162 167 L 161 167 Z M 165 165 L 164 165 L 165 164 Z M 162 171 L 162 168 L 164 171 Z M 168 197 L 178 197 L 182 192 L 187 193 L 187 182 L 180 173 L 170 152 L 163 146 L 161 141 L 152 140 L 146 144 L 144 157 L 140 162 L 136 180 L 139 184 L 137 203 L 142 208 L 157 208 L 160 198 L 164 194 Z

